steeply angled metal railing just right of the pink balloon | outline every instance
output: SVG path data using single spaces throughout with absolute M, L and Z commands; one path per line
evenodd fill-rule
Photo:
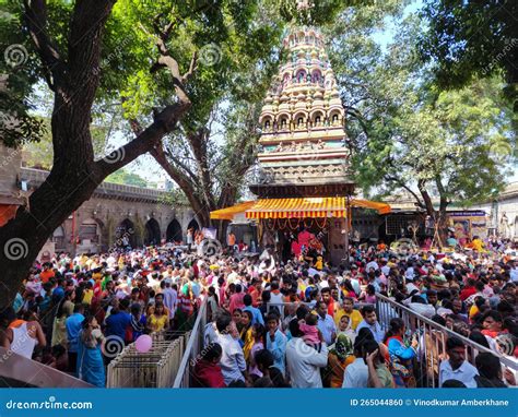
M 191 385 L 192 367 L 196 362 L 196 358 L 198 358 L 203 347 L 203 331 L 207 323 L 208 318 L 205 298 L 198 310 L 198 315 L 190 332 L 190 337 L 187 342 L 187 347 L 178 367 L 173 388 L 189 388 Z

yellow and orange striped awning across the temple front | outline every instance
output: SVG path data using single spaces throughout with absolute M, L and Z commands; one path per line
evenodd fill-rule
M 376 201 L 351 199 L 350 204 L 352 207 L 376 210 L 379 214 L 391 211 L 389 204 Z M 216 210 L 211 212 L 211 218 L 232 221 L 239 213 L 245 213 L 247 218 L 346 217 L 348 207 L 344 196 L 262 199 Z

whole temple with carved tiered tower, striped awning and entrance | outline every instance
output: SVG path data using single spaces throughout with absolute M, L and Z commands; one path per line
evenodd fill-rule
M 211 213 L 233 219 L 245 213 L 258 223 L 259 245 L 331 264 L 345 258 L 351 207 L 390 212 L 384 203 L 353 198 L 345 111 L 321 34 L 292 31 L 283 41 L 281 65 L 264 99 L 259 123 L 256 201 Z M 346 221 L 349 219 L 349 221 Z

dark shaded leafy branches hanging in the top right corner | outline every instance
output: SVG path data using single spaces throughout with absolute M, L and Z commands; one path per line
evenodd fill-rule
M 439 87 L 503 74 L 504 92 L 518 111 L 518 2 L 427 0 L 423 16 L 427 31 L 420 35 L 420 52 L 436 62 Z

